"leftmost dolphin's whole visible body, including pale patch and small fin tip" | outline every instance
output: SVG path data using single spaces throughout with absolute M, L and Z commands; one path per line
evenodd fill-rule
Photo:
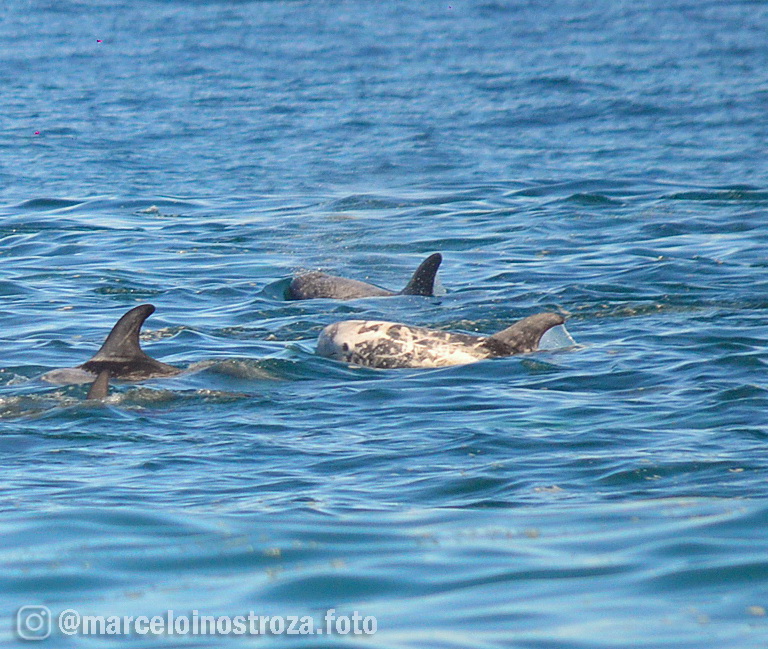
M 152 304 L 142 304 L 131 309 L 112 327 L 101 349 L 91 360 L 74 368 L 52 370 L 42 378 L 51 383 L 87 383 L 96 378 L 94 394 L 106 396 L 110 378 L 143 381 L 179 374 L 182 371 L 180 368 L 161 363 L 147 356 L 141 349 L 139 343 L 141 326 L 154 311 L 155 307 Z M 106 376 L 104 376 L 105 372 Z M 94 396 L 93 398 L 103 397 Z

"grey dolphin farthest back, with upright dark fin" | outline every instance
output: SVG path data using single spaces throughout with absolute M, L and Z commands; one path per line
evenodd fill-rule
M 443 256 L 439 252 L 427 257 L 416 269 L 411 281 L 399 293 L 356 279 L 313 272 L 294 277 L 286 291 L 286 298 L 289 300 L 309 300 L 325 297 L 336 300 L 354 300 L 360 297 L 388 297 L 392 295 L 432 297 L 435 294 L 435 275 L 437 275 L 437 269 L 440 268 L 442 261 Z

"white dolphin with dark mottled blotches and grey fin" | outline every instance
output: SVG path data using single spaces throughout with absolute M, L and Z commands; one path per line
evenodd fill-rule
M 398 322 L 345 320 L 320 333 L 317 354 L 368 367 L 445 367 L 536 351 L 541 337 L 565 322 L 538 313 L 492 336 L 411 327 Z

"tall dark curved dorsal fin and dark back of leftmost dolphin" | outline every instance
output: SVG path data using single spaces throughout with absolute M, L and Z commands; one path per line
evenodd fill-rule
M 156 376 L 173 376 L 181 370 L 147 356 L 139 344 L 139 331 L 144 321 L 154 313 L 151 304 L 134 307 L 112 327 L 96 355 L 80 367 L 96 375 L 103 370 L 115 379 L 146 379 Z

